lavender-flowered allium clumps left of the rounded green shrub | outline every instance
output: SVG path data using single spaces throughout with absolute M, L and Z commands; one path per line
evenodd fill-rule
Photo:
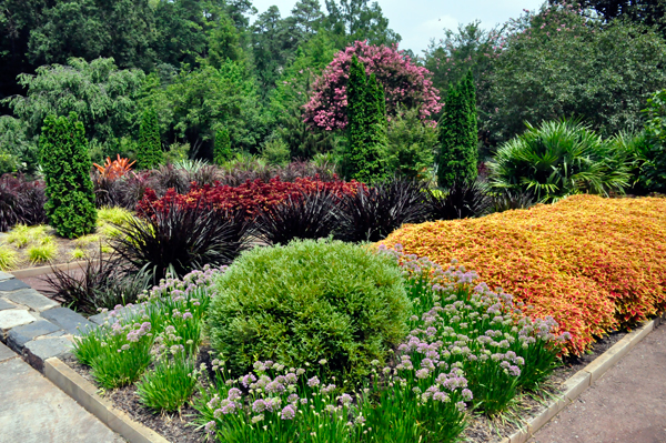
M 74 355 L 107 389 L 137 381 L 155 360 L 151 354 L 155 342 L 158 349 L 180 350 L 190 359 L 201 343 L 211 283 L 222 272 L 224 268 L 205 266 L 182 280 L 169 278 L 141 294 L 143 301 L 134 308 L 129 303 L 100 310 L 107 314 L 104 323 L 74 338 Z

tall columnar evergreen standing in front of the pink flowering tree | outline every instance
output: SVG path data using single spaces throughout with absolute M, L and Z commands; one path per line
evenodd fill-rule
M 356 57 L 350 64 L 347 120 L 344 174 L 366 183 L 382 180 L 386 171 L 384 92 L 374 74 L 367 78 Z

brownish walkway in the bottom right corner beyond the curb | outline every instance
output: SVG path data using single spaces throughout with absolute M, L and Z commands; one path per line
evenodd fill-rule
M 666 443 L 666 323 L 528 443 Z

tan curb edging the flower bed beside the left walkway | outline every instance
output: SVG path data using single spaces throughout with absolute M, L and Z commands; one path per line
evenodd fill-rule
M 113 407 L 97 394 L 97 387 L 58 358 L 47 359 L 44 375 L 92 415 L 130 443 L 169 443 L 153 430 L 134 422 L 128 414 Z

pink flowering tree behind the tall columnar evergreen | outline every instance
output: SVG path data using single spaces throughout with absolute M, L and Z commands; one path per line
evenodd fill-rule
M 398 109 L 418 109 L 421 120 L 435 124 L 433 114 L 442 105 L 431 81 L 431 72 L 412 62 L 397 47 L 369 46 L 356 41 L 340 51 L 312 85 L 312 97 L 303 107 L 304 121 L 310 127 L 326 131 L 344 129 L 346 119 L 346 87 L 352 57 L 356 56 L 366 74 L 374 73 L 384 87 L 386 114 L 395 115 Z

